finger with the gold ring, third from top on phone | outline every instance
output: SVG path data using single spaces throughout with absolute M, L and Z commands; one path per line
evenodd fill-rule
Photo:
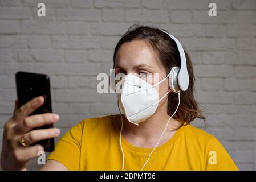
M 29 133 L 23 135 L 23 139 L 27 145 L 30 145 L 40 140 L 58 137 L 59 134 L 60 130 L 56 128 L 32 130 Z

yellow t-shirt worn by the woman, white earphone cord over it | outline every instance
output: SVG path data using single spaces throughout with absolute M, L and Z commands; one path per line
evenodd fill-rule
M 59 140 L 48 159 L 69 170 L 121 170 L 120 115 L 84 119 Z M 124 170 L 141 170 L 153 148 L 139 148 L 121 136 Z M 221 143 L 205 131 L 184 125 L 157 147 L 144 170 L 238 170 Z

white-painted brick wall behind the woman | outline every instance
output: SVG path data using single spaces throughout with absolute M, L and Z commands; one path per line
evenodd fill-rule
M 46 17 L 37 16 L 37 3 Z M 217 17 L 208 4 L 217 4 Z M 196 98 L 240 169 L 255 169 L 256 1 L 0 0 L 0 135 L 13 112 L 14 73 L 50 75 L 62 134 L 83 118 L 117 113 L 113 94 L 97 94 L 113 49 L 134 23 L 165 28 L 192 57 Z M 198 119 L 194 125 L 202 127 Z M 0 146 L 1 146 L 0 139 Z M 37 169 L 32 160 L 29 169 Z

